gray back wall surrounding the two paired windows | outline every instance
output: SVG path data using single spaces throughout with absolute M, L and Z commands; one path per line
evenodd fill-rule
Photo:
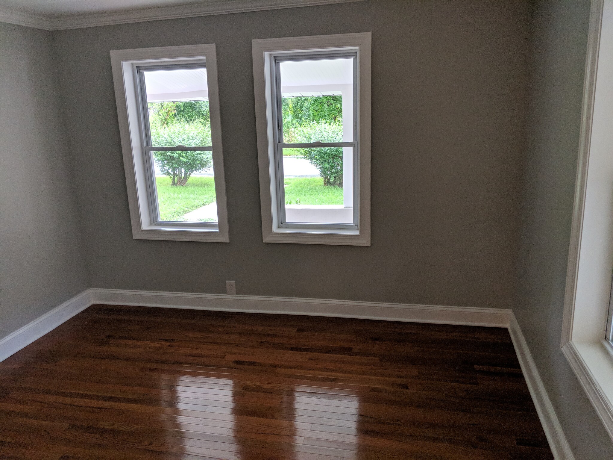
M 92 285 L 512 307 L 529 23 L 516 0 L 376 0 L 56 33 Z M 372 246 L 262 243 L 251 39 L 363 31 Z M 134 240 L 109 50 L 202 43 L 217 44 L 230 243 Z

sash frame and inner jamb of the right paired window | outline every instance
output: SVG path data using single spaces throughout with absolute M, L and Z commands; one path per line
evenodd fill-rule
M 357 50 L 295 50 L 292 53 L 281 53 L 279 55 L 273 54 L 269 61 L 270 69 L 270 83 L 272 85 L 272 110 L 273 110 L 273 155 L 275 165 L 275 193 L 276 193 L 276 217 L 279 228 L 286 229 L 320 229 L 330 230 L 346 229 L 357 230 L 359 229 L 359 197 L 360 197 L 360 184 L 359 184 L 359 167 L 360 167 L 360 154 L 359 154 L 359 120 L 358 120 L 358 104 L 359 104 L 359 80 L 358 80 L 358 52 Z M 284 141 L 283 131 L 283 109 L 282 102 L 283 96 L 281 94 L 281 63 L 282 62 L 296 62 L 296 61 L 321 61 L 324 59 L 352 59 L 352 71 L 353 71 L 353 140 L 349 142 L 311 142 L 305 144 L 286 144 Z M 284 148 L 304 148 L 304 147 L 351 147 L 352 148 L 352 205 L 353 205 L 353 223 L 352 224 L 340 224 L 340 223 L 299 223 L 286 221 L 285 214 L 285 186 L 284 186 L 284 172 L 283 172 L 283 149 Z

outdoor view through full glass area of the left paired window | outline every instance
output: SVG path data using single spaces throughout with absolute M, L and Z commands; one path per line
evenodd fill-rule
M 140 67 L 158 221 L 217 222 L 207 69 Z

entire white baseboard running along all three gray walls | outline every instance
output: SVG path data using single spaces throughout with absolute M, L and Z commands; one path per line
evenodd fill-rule
M 55 329 L 89 305 L 134 305 L 223 312 L 337 316 L 365 320 L 458 324 L 508 328 L 517 358 L 530 389 L 541 424 L 556 460 L 574 460 L 562 427 L 549 401 L 524 335 L 512 310 L 441 305 L 390 304 L 300 297 L 226 296 L 224 294 L 170 293 L 91 288 L 59 305 L 32 323 L 0 340 L 0 361 Z

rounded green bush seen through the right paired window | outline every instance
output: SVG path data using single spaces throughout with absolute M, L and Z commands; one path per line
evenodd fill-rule
M 291 129 L 294 142 L 343 142 L 340 123 L 308 123 Z M 343 186 L 343 147 L 308 147 L 301 149 L 308 162 L 316 167 L 326 186 Z

